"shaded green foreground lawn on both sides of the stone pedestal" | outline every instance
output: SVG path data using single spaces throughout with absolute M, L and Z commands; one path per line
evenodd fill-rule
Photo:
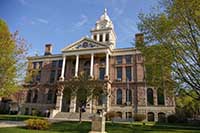
M 167 127 L 168 126 L 168 127 Z M 0 133 L 88 133 L 91 128 L 90 122 L 59 122 L 53 123 L 49 130 L 38 131 L 28 130 L 24 127 L 0 128 Z M 138 124 L 106 124 L 106 131 L 108 133 L 200 133 L 200 128 L 192 129 L 192 127 L 169 125 L 145 125 Z

